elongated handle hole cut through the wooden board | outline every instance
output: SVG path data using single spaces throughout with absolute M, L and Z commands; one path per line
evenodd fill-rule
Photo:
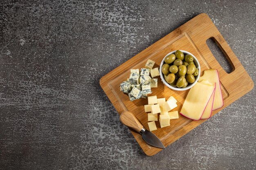
M 214 38 L 209 38 L 206 40 L 206 44 L 211 50 L 211 53 L 216 58 L 220 66 L 225 70 L 227 73 L 231 73 L 234 71 L 234 68 L 232 67 L 232 64 L 228 60 L 228 56 L 223 53 L 222 48 L 220 48 L 219 44 L 216 43 L 216 40 Z

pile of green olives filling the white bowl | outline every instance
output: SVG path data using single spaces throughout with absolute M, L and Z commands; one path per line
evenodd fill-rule
M 164 79 L 173 87 L 185 88 L 189 84 L 195 82 L 198 76 L 198 68 L 194 63 L 192 55 L 184 54 L 177 50 L 175 54 L 167 55 L 164 58 L 162 73 Z

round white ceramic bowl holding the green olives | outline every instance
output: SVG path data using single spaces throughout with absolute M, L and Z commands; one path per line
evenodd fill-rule
M 188 90 L 189 88 L 193 87 L 193 86 L 195 85 L 195 83 L 198 82 L 198 79 L 199 79 L 200 73 L 201 73 L 200 64 L 199 64 L 199 62 L 198 62 L 198 59 L 197 59 L 193 54 L 189 53 L 188 51 L 184 51 L 184 50 L 180 50 L 180 51 L 182 51 L 182 53 L 184 53 L 184 56 L 185 56 L 186 54 L 190 54 L 190 55 L 193 56 L 195 66 L 196 66 L 196 68 L 198 68 L 199 73 L 198 73 L 198 76 L 195 77 L 195 82 L 193 82 L 192 84 L 189 84 L 189 85 L 186 86 L 185 88 L 177 88 L 177 87 L 171 86 L 171 85 L 168 84 L 168 83 L 165 81 L 165 79 L 164 79 L 164 74 L 162 73 L 162 66 L 163 66 L 163 64 L 165 63 L 165 62 L 164 62 L 164 58 L 165 58 L 167 55 L 175 54 L 176 50 L 175 50 L 175 51 L 172 51 L 171 53 L 168 53 L 166 56 L 164 56 L 164 58 L 163 58 L 163 60 L 162 60 L 162 62 L 161 62 L 161 64 L 160 64 L 160 69 L 159 69 L 159 71 L 160 71 L 160 78 L 161 78 L 162 82 L 163 82 L 168 88 L 171 88 L 172 90 L 175 90 L 175 91 L 185 91 L 185 90 Z

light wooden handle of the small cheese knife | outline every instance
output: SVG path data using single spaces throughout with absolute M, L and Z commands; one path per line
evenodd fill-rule
M 128 126 L 129 128 L 132 128 L 133 130 L 136 130 L 137 132 L 140 132 L 143 128 L 135 115 L 133 115 L 133 113 L 129 111 L 124 111 L 123 113 L 121 113 L 120 121 L 122 122 L 122 124 Z

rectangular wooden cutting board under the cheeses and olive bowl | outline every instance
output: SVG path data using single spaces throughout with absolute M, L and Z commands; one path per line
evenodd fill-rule
M 233 71 L 231 73 L 226 73 L 211 53 L 206 44 L 206 40 L 209 38 L 213 38 L 220 46 L 223 53 L 225 53 L 233 67 Z M 200 62 L 201 75 L 206 69 L 218 69 L 224 106 L 218 110 L 214 110 L 212 115 L 215 115 L 220 110 L 251 91 L 254 87 L 252 79 L 249 77 L 245 68 L 243 68 L 236 55 L 230 49 L 229 45 L 224 40 L 209 16 L 202 13 L 101 78 L 101 87 L 119 114 L 124 110 L 129 110 L 137 117 L 141 124 L 148 129 L 148 117 L 147 113 L 144 112 L 144 105 L 147 104 L 148 100 L 139 99 L 131 102 L 129 97 L 120 91 L 119 85 L 121 82 L 126 81 L 130 76 L 130 69 L 144 68 L 148 59 L 155 61 L 154 68 L 159 68 L 163 57 L 174 50 L 185 50 L 195 55 Z M 173 97 L 178 101 L 177 110 L 180 112 L 189 90 L 173 91 L 164 86 L 160 77 L 157 78 L 158 87 L 152 88 L 153 93 L 151 95 L 157 95 L 157 98 L 165 97 L 166 99 L 173 95 Z M 238 82 L 237 79 L 244 81 Z M 171 120 L 171 126 L 165 128 L 160 128 L 159 121 L 156 121 L 157 130 L 153 131 L 153 133 L 159 137 L 166 147 L 196 126 L 202 124 L 204 121 L 206 120 L 193 121 L 180 115 L 179 119 Z M 146 144 L 146 142 L 141 138 L 141 135 L 137 132 L 133 130 L 131 130 L 131 132 L 146 155 L 152 156 L 162 150 Z

